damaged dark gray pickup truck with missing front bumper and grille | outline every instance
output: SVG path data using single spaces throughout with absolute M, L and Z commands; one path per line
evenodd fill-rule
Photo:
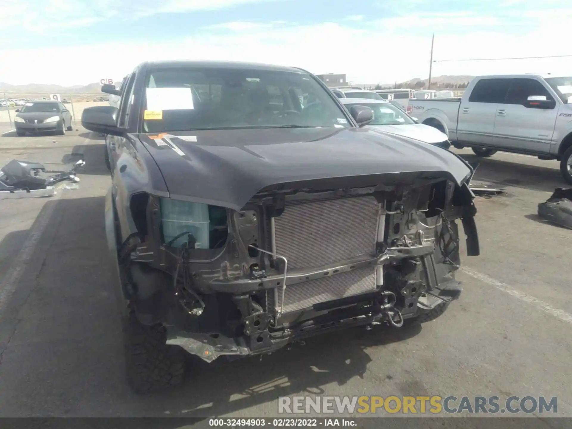
M 184 350 L 269 354 L 334 329 L 427 321 L 460 294 L 459 230 L 479 255 L 473 170 L 362 128 L 311 73 L 142 63 L 108 135 L 106 231 L 134 390 L 173 386 Z M 178 347 L 177 347 L 178 346 Z M 351 347 L 351 345 L 346 345 Z

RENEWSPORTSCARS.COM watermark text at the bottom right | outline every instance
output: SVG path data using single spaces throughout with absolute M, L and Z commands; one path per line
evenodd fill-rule
M 557 396 L 279 396 L 284 414 L 505 414 L 558 412 Z

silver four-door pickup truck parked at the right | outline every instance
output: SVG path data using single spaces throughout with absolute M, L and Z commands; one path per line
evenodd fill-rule
M 456 148 L 559 160 L 572 183 L 572 77 L 519 74 L 474 78 L 461 98 L 410 100 L 408 112 L 443 131 Z

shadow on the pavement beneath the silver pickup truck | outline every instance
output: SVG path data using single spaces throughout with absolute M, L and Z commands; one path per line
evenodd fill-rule
M 494 158 L 480 158 L 467 154 L 463 154 L 462 157 L 467 162 L 480 164 L 473 179 L 475 182 L 482 180 L 490 182 L 491 185 L 497 188 L 514 186 L 515 188 L 533 189 L 543 192 L 554 192 L 555 188 L 567 187 L 560 170 L 554 168 L 495 160 Z

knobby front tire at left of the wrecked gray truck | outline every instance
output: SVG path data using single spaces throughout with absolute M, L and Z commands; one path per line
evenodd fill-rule
M 162 325 L 145 326 L 134 315 L 123 322 L 130 387 L 139 394 L 145 394 L 182 383 L 185 351 L 177 345 L 165 344 L 165 328 Z

